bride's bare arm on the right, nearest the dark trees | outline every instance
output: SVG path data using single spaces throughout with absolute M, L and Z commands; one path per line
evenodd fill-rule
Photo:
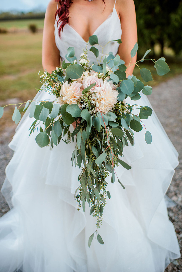
M 128 66 L 131 60 L 130 52 L 137 42 L 137 27 L 136 27 L 136 13 L 135 4 L 133 0 L 117 0 L 116 9 L 119 12 L 121 20 L 122 43 L 119 46 L 118 54 L 120 58 L 125 61 Z M 132 58 L 132 63 L 136 62 L 136 55 Z M 132 75 L 135 65 L 128 67 L 127 76 Z

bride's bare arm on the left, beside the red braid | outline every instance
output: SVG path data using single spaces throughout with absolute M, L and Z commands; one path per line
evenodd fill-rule
M 52 73 L 60 65 L 59 50 L 56 47 L 54 37 L 56 10 L 56 1 L 51 0 L 46 10 L 42 43 L 42 66 L 49 73 Z

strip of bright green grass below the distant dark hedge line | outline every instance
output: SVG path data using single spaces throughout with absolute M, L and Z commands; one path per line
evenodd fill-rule
M 6 28 L 6 29 L 10 29 L 12 27 L 25 29 L 25 28 L 28 28 L 29 24 L 36 24 L 38 28 L 43 28 L 44 19 L 0 21 L 0 27 Z

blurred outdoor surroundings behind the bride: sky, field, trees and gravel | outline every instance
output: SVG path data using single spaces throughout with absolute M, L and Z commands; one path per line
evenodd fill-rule
M 41 84 L 37 72 L 41 64 L 42 34 L 49 0 L 0 0 L 0 106 L 32 99 Z M 168 209 L 182 246 L 182 0 L 134 0 L 138 27 L 138 60 L 146 50 L 148 57 L 165 57 L 171 71 L 158 76 L 152 61 L 139 63 L 151 70 L 153 94 L 148 97 L 169 138 L 179 152 L 176 169 L 167 195 Z M 137 67 L 133 74 L 140 78 Z M 142 79 L 141 79 L 142 80 Z M 0 120 L 0 187 L 5 166 L 13 152 L 8 149 L 16 125 L 11 120 L 14 106 L 6 107 Z M 23 111 L 23 107 L 21 112 Z M 0 216 L 8 211 L 0 197 Z M 176 260 L 166 271 L 182 272 L 182 260 Z

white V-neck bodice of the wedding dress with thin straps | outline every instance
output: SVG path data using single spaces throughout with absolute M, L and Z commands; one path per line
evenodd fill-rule
M 116 3 L 116 1 L 115 1 Z M 58 27 L 57 21 L 59 17 L 56 17 L 55 20 L 55 42 L 56 46 L 59 49 L 60 56 L 62 61 L 65 60 L 65 55 L 67 54 L 67 48 L 73 46 L 75 49 L 75 56 L 77 59 L 79 59 L 80 54 L 83 52 L 83 48 L 86 47 L 86 42 L 83 40 L 83 38 L 79 35 L 79 33 L 70 25 L 66 24 L 61 30 L 61 37 L 58 35 Z M 61 23 L 61 22 L 60 22 Z M 121 22 L 118 17 L 117 11 L 114 8 L 111 14 L 109 14 L 108 18 L 95 30 L 95 32 L 92 35 L 98 36 L 99 44 L 102 46 L 105 46 L 107 42 L 114 41 L 117 39 L 121 39 Z M 102 48 L 99 45 L 94 45 L 99 50 L 99 57 L 98 60 L 100 60 L 102 55 Z M 108 54 L 109 52 L 113 52 L 113 55 L 116 55 L 118 52 L 119 44 L 117 42 L 110 42 L 106 45 L 106 47 L 103 50 L 103 55 Z M 91 45 L 88 44 L 88 58 L 90 60 L 90 63 L 97 63 L 97 59 L 93 52 L 89 51 L 91 48 Z

